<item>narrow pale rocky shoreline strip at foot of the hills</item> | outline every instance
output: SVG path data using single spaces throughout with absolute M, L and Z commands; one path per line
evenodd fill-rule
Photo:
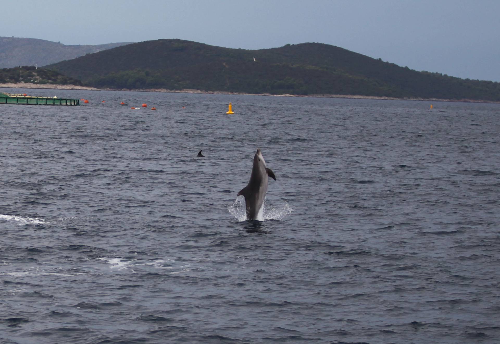
M 134 92 L 168 92 L 168 93 L 201 93 L 201 94 L 236 94 L 236 95 L 267 95 L 267 96 L 291 96 L 291 97 L 312 97 L 312 98 L 346 98 L 346 99 L 379 99 L 379 100 L 415 100 L 415 101 L 449 101 L 449 102 L 478 102 L 478 103 L 494 103 L 500 101 L 490 100 L 475 100 L 475 99 L 439 99 L 439 98 L 395 98 L 386 96 L 373 95 L 351 95 L 351 94 L 269 94 L 269 93 L 241 93 L 241 92 L 226 92 L 226 91 L 202 91 L 199 89 L 180 89 L 172 90 L 166 88 L 151 88 L 151 89 L 115 89 L 115 88 L 95 88 L 79 85 L 62 85 L 62 84 L 37 84 L 28 82 L 17 83 L 0 83 L 1 88 L 42 88 L 42 89 L 76 89 L 76 90 L 92 90 L 92 91 L 134 91 Z

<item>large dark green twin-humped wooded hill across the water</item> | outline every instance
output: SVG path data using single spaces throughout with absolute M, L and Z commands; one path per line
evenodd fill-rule
M 86 54 L 46 68 L 94 87 L 500 101 L 498 82 L 415 71 L 321 43 L 245 50 L 158 39 Z

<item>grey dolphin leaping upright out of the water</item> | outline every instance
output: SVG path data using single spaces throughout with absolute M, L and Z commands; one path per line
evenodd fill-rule
M 253 156 L 250 180 L 237 194 L 245 197 L 247 220 L 254 220 L 257 217 L 258 211 L 264 202 L 265 192 L 267 191 L 267 176 L 276 180 L 274 172 L 265 166 L 264 157 L 260 152 L 260 148 L 258 148 Z

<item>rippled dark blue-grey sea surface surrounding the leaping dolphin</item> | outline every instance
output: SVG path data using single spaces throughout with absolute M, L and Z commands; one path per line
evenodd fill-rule
M 500 104 L 0 91 L 2 344 L 499 342 Z

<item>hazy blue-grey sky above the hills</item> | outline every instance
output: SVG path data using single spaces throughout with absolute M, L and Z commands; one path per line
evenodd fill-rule
M 0 36 L 64 44 L 180 38 L 244 49 L 320 42 L 411 69 L 500 81 L 500 0 L 21 3 L 3 12 Z

